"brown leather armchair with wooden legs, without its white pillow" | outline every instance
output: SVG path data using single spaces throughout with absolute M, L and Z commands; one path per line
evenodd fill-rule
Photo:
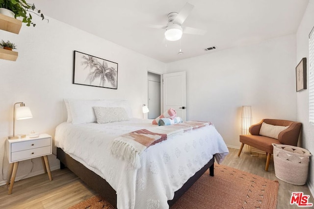
M 289 126 L 286 130 L 279 133 L 278 139 L 264 137 L 260 135 L 260 129 L 262 127 L 262 122 L 276 126 Z M 244 144 L 256 147 L 267 154 L 265 171 L 268 171 L 268 166 L 270 162 L 271 154 L 273 154 L 272 143 L 276 144 L 288 144 L 292 146 L 297 146 L 302 123 L 294 122 L 290 120 L 279 120 L 279 119 L 262 119 L 258 124 L 252 125 L 249 128 L 251 135 L 240 135 L 240 142 L 242 142 L 238 157 L 241 154 Z

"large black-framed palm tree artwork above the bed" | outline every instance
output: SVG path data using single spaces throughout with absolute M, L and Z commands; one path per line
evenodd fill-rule
M 73 84 L 118 89 L 118 63 L 74 51 Z

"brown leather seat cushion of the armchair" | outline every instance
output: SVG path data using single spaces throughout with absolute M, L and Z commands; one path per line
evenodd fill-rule
M 281 144 L 278 139 L 257 135 L 240 135 L 240 142 L 256 147 L 270 154 L 273 153 L 272 143 Z

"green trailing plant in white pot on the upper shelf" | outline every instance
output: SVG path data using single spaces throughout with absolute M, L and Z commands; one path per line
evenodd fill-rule
M 33 3 L 27 3 L 26 0 L 0 0 L 0 8 L 11 10 L 15 18 L 22 17 L 22 22 L 26 23 L 27 26 L 33 25 L 35 27 L 36 25 L 32 22 L 33 17 L 31 13 L 45 20 L 45 16 L 41 13 L 40 9 L 37 9 Z

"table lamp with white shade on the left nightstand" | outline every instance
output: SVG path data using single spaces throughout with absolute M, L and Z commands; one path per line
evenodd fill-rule
M 17 104 L 20 104 L 20 107 L 15 107 Z M 17 102 L 13 105 L 13 136 L 9 136 L 9 139 L 21 139 L 25 138 L 26 135 L 15 135 L 15 120 L 22 120 L 32 118 L 29 107 L 26 107 L 24 102 Z

